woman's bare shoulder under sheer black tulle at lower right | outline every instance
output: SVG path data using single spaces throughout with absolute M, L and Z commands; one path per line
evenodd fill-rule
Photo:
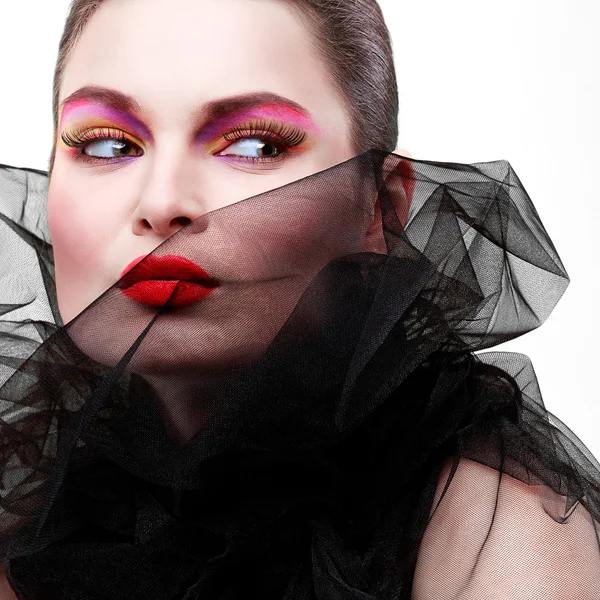
M 478 462 L 444 462 L 417 558 L 413 600 L 600 598 L 600 524 L 581 505 Z M 559 510 L 559 507 L 563 510 Z

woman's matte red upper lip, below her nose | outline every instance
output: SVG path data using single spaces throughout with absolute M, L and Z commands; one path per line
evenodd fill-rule
M 209 287 L 218 285 L 218 281 L 196 263 L 176 254 L 139 256 L 123 269 L 119 283 L 121 288 L 128 288 L 153 279 L 194 281 Z

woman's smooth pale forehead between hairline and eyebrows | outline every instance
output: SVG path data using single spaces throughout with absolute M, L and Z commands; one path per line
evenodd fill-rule
M 279 0 L 108 0 L 69 56 L 60 101 L 101 86 L 175 121 L 262 90 L 327 112 L 335 88 L 302 21 Z

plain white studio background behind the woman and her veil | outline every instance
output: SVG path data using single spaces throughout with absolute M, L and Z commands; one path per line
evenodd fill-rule
M 497 348 L 531 357 L 548 410 L 600 458 L 600 2 L 380 4 L 400 145 L 426 160 L 507 159 L 558 249 L 565 295 L 541 328 Z M 0 163 L 47 169 L 67 8 L 0 0 Z

